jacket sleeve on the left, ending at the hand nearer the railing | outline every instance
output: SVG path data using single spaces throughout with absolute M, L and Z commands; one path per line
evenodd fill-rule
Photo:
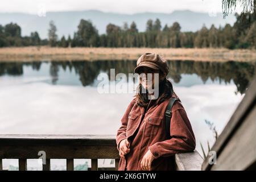
M 123 114 L 123 117 L 121 119 L 121 127 L 117 130 L 117 136 L 115 137 L 116 143 L 117 143 L 117 150 L 119 151 L 119 143 L 121 140 L 126 139 L 126 127 L 127 127 L 127 122 L 128 122 L 128 116 L 133 108 L 133 105 L 135 103 L 135 100 L 133 99 L 130 104 L 128 105 L 125 114 Z

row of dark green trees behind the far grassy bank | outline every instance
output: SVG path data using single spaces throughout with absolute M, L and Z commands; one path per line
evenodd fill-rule
M 247 15 L 249 15 L 247 13 Z M 171 26 L 162 24 L 159 19 L 148 19 L 146 30 L 139 32 L 137 24 L 124 23 L 117 26 L 109 23 L 105 34 L 98 34 L 98 30 L 90 20 L 81 19 L 73 38 L 62 36 L 58 38 L 57 27 L 51 21 L 48 29 L 48 39 L 40 39 L 38 32 L 31 32 L 30 36 L 21 36 L 21 28 L 16 23 L 6 26 L 0 25 L 0 47 L 7 46 L 41 46 L 49 44 L 51 47 L 161 47 L 161 48 L 256 48 L 255 16 L 236 14 L 233 26 L 203 27 L 196 32 L 181 31 L 178 22 Z

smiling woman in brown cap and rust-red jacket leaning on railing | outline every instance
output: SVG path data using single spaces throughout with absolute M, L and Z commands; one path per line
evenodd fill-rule
M 156 53 L 145 53 L 139 57 L 134 72 L 146 76 L 139 77 L 137 94 L 117 131 L 121 157 L 118 170 L 173 170 L 174 154 L 195 150 L 196 141 L 187 113 L 166 78 L 167 61 Z M 151 79 L 147 73 L 152 73 Z M 154 73 L 159 73 L 159 80 L 155 80 Z M 149 90 L 158 91 L 158 97 L 150 99 L 154 92 Z M 170 136 L 167 136 L 164 113 L 171 97 L 177 101 L 172 106 Z

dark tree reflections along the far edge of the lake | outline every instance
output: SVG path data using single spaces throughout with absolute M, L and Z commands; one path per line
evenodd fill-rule
M 97 76 L 101 72 L 105 72 L 110 78 L 110 68 L 115 68 L 115 74 L 133 73 L 136 66 L 136 60 L 123 61 L 51 61 L 51 62 L 32 62 L 32 63 L 0 63 L 0 76 L 21 76 L 24 74 L 24 67 L 31 67 L 33 71 L 41 72 L 44 64 L 48 65 L 48 73 L 51 76 L 51 84 L 65 84 L 65 80 L 61 80 L 60 72 L 68 74 L 68 71 L 75 71 L 75 75 L 79 76 L 81 85 L 93 85 Z M 205 84 L 208 80 L 212 82 L 230 83 L 234 82 L 237 92 L 245 93 L 247 86 L 252 80 L 256 71 L 255 63 L 245 63 L 228 61 L 224 63 L 207 62 L 207 61 L 168 61 L 171 68 L 168 78 L 171 78 L 175 84 L 179 84 L 183 75 L 196 74 Z M 76 79 L 74 75 L 68 75 Z M 76 81 L 73 81 L 76 82 Z

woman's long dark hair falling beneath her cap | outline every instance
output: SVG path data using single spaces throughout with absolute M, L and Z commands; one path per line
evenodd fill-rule
M 160 73 L 161 74 L 161 73 Z M 137 87 L 137 94 L 135 95 L 136 102 L 139 106 L 146 107 L 150 100 L 148 100 L 148 91 L 146 93 L 142 93 L 142 85 L 139 83 Z M 174 93 L 174 89 L 172 87 L 171 81 L 167 80 L 166 77 L 162 81 L 159 82 L 159 96 L 156 99 L 155 105 L 160 104 L 167 98 L 171 98 Z

